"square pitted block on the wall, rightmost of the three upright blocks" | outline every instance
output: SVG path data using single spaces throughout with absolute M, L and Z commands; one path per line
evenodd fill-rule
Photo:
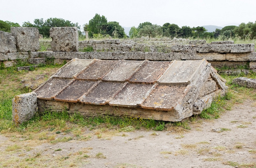
M 77 52 L 78 31 L 77 27 L 52 27 L 50 37 L 53 39 L 51 48 L 55 52 Z

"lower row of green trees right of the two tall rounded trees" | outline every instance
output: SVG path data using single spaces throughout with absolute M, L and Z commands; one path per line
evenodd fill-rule
M 129 31 L 130 38 L 142 36 L 169 37 L 169 38 L 221 38 L 223 40 L 238 37 L 240 39 L 256 39 L 256 21 L 248 24 L 242 23 L 239 26 L 225 26 L 213 32 L 207 32 L 204 27 L 179 27 L 176 24 L 166 23 L 162 26 L 153 25 L 151 22 L 143 22 L 138 27 L 132 27 Z

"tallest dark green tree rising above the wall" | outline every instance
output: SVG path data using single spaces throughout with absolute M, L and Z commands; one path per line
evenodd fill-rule
M 89 36 L 92 37 L 93 34 L 105 34 L 103 31 L 103 25 L 106 25 L 108 20 L 106 20 L 105 16 L 100 16 L 99 14 L 95 14 L 95 16 L 89 21 L 89 25 L 87 27 L 87 31 L 89 31 Z

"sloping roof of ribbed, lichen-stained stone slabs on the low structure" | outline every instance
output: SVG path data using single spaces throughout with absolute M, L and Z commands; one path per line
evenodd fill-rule
M 211 72 L 206 60 L 75 58 L 35 92 L 41 100 L 185 113 L 193 111 L 192 106 Z

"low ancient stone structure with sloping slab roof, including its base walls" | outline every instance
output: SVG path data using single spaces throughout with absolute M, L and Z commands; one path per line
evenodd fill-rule
M 225 80 L 205 59 L 72 59 L 35 90 L 39 110 L 127 115 L 176 122 L 224 94 Z

